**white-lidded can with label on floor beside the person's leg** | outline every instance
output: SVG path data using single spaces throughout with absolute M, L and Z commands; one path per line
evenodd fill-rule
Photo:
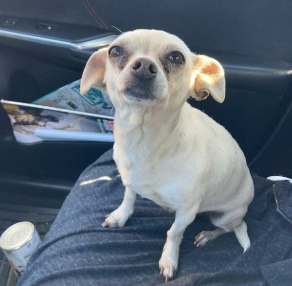
M 0 237 L 0 248 L 11 267 L 20 273 L 25 271 L 29 258 L 40 243 L 37 230 L 29 221 L 13 224 Z

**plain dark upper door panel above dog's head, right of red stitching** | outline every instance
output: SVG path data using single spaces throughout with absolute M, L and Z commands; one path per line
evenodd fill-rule
M 99 11 L 97 1 L 91 4 Z M 108 25 L 123 32 L 164 30 L 180 36 L 193 51 L 292 61 L 290 0 L 123 0 L 106 1 L 102 8 Z

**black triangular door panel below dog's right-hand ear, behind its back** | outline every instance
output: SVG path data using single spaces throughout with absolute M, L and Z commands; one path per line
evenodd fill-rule
M 254 147 L 273 121 L 281 100 L 280 96 L 227 88 L 225 101 L 221 104 L 211 97 L 189 102 L 223 125 L 250 161 Z

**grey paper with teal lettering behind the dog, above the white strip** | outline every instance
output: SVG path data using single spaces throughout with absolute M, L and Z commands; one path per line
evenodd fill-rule
M 109 95 L 96 87 L 92 87 L 86 94 L 81 95 L 80 82 L 81 80 L 77 80 L 71 84 L 67 84 L 32 103 L 112 116 L 113 105 Z

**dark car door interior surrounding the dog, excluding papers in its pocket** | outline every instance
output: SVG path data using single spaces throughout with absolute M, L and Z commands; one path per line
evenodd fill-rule
M 292 177 L 291 26 L 288 0 L 1 0 L 0 98 L 31 103 L 80 79 L 91 54 L 115 35 L 164 30 L 224 67 L 225 101 L 189 103 L 231 133 L 251 172 Z M 43 237 L 80 173 L 111 148 L 19 143 L 0 106 L 0 234 L 25 219 Z M 16 281 L 0 253 L 0 286 Z

